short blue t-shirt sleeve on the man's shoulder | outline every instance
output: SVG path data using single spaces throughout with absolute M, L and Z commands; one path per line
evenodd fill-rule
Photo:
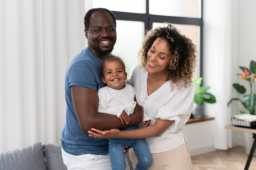
M 85 87 L 97 91 L 97 73 L 92 72 L 86 61 L 74 63 L 68 72 L 69 87 Z

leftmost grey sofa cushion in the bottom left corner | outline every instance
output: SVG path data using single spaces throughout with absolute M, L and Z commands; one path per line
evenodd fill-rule
M 46 170 L 41 142 L 0 153 L 0 170 Z

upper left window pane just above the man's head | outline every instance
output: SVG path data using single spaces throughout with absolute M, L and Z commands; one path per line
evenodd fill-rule
M 146 0 L 92 0 L 92 8 L 106 8 L 110 11 L 146 13 Z

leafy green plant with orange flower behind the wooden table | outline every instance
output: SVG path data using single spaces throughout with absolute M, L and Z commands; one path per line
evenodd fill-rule
M 240 85 L 238 83 L 234 83 L 233 87 L 236 89 L 236 91 L 239 94 L 244 94 L 243 96 L 243 100 L 241 100 L 240 98 L 231 98 L 231 100 L 227 103 L 227 106 L 229 106 L 229 104 L 235 100 L 240 101 L 243 106 L 245 107 L 245 109 L 247 109 L 249 111 L 250 114 L 255 115 L 255 107 L 256 107 L 256 62 L 255 61 L 251 61 L 250 62 L 250 69 L 245 68 L 240 66 L 239 67 L 242 71 L 243 74 L 237 74 L 240 78 L 242 78 L 243 80 L 247 81 L 249 83 L 249 87 L 250 87 L 250 93 L 249 94 L 245 94 L 246 93 L 246 89 L 243 85 Z M 245 111 L 241 111 L 240 110 L 240 114 L 243 113 L 247 113 Z

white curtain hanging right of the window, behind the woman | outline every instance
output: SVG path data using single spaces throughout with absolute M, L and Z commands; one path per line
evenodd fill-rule
M 215 148 L 226 150 L 234 144 L 232 132 L 225 129 L 231 124 L 232 82 L 236 80 L 238 65 L 237 0 L 204 1 L 204 83 L 212 85 L 217 102 L 207 105 L 209 116 L 215 117 Z M 234 107 L 234 106 L 233 106 Z M 212 113 L 212 114 L 211 114 Z

